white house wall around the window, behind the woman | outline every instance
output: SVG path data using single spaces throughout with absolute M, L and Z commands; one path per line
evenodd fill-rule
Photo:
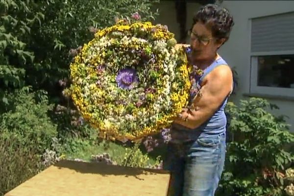
M 239 89 L 234 102 L 245 98 L 250 85 L 250 23 L 249 19 L 294 11 L 292 0 L 224 0 L 226 7 L 234 17 L 235 25 L 229 41 L 220 49 L 220 54 L 231 67 L 236 67 L 239 77 Z M 274 27 L 273 27 L 274 28 Z M 270 42 L 270 40 L 269 40 Z M 291 131 L 294 131 L 294 101 L 283 98 L 269 98 L 280 108 L 276 115 L 287 115 Z

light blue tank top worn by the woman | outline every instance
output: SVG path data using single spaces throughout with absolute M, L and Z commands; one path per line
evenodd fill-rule
M 210 72 L 212 72 L 219 65 L 227 65 L 227 63 L 220 57 L 215 60 L 210 66 L 203 70 L 203 75 L 196 81 L 196 84 L 201 84 L 203 78 Z M 191 95 L 192 97 L 194 95 Z M 226 106 L 228 97 L 226 97 L 218 110 L 214 115 L 208 119 L 205 123 L 197 127 L 196 129 L 189 129 L 180 124 L 172 124 L 171 134 L 173 141 L 186 141 L 195 140 L 198 137 L 204 137 L 205 135 L 218 135 L 226 132 L 226 115 L 224 108 Z

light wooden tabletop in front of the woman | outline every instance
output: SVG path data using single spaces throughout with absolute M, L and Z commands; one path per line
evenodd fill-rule
M 170 174 L 63 160 L 5 196 L 166 196 Z

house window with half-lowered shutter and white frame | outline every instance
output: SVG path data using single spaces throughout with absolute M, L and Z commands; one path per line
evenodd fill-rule
M 251 20 L 250 93 L 294 97 L 294 12 Z

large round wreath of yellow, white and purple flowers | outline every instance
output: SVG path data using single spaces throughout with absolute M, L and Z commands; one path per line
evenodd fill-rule
M 186 53 L 164 25 L 121 20 L 99 30 L 70 70 L 73 102 L 103 138 L 158 133 L 188 104 Z

